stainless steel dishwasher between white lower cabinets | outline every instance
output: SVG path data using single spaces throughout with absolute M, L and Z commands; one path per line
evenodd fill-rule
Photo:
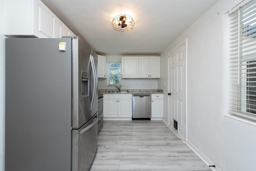
M 151 94 L 132 95 L 132 119 L 151 118 Z

